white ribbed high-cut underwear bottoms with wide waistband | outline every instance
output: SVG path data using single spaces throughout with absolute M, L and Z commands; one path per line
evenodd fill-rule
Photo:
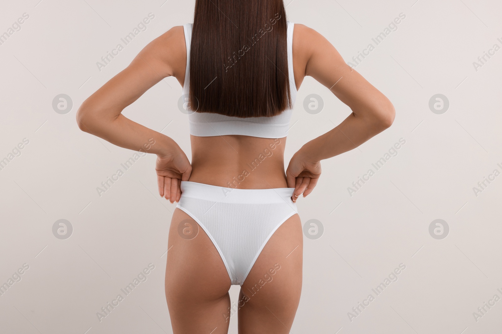
M 181 181 L 176 205 L 206 232 L 232 285 L 242 285 L 272 234 L 298 213 L 294 188 L 233 189 Z

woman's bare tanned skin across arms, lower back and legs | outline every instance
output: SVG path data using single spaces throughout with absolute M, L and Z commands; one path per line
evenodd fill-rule
M 183 85 L 186 47 L 183 27 L 177 26 L 148 44 L 133 62 L 80 106 L 82 131 L 117 146 L 157 154 L 159 194 L 171 203 L 180 199 L 180 181 L 242 189 L 295 188 L 292 200 L 312 192 L 321 174 L 320 161 L 349 151 L 391 126 L 394 107 L 376 88 L 345 64 L 319 33 L 295 24 L 293 67 L 297 89 L 311 76 L 331 90 L 352 113 L 331 131 L 306 143 L 284 170 L 286 138 L 260 166 L 239 184 L 242 174 L 274 139 L 240 135 L 190 136 L 192 163 L 170 137 L 135 123 L 121 112 L 153 85 L 174 76 Z M 145 147 L 151 140 L 154 145 Z M 277 142 L 276 142 L 277 143 Z M 270 238 L 246 277 L 237 305 L 230 305 L 230 278 L 216 248 L 202 228 L 193 239 L 182 238 L 178 225 L 191 219 L 176 209 L 168 240 L 166 300 L 173 332 L 227 333 L 229 318 L 238 316 L 239 334 L 288 333 L 300 300 L 303 234 L 297 214 Z M 195 221 L 191 221 L 196 226 Z M 271 275 L 270 270 L 280 269 Z M 256 291 L 265 274 L 273 279 Z M 229 309 L 229 307 L 231 307 Z

